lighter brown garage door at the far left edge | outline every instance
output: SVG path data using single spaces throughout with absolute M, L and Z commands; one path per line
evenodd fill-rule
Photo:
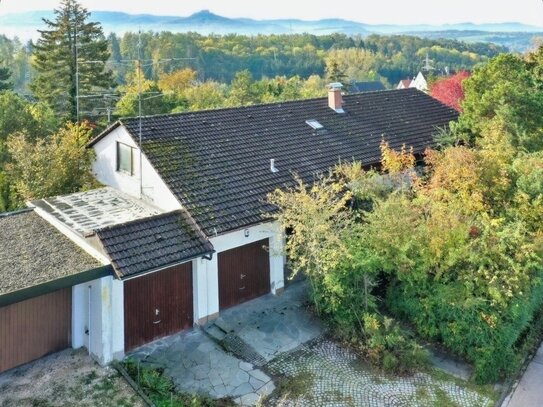
M 72 289 L 0 308 L 0 372 L 71 345 Z

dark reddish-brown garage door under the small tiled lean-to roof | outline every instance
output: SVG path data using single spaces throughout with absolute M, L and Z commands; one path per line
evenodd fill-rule
M 190 262 L 125 281 L 125 350 L 191 327 L 192 309 Z

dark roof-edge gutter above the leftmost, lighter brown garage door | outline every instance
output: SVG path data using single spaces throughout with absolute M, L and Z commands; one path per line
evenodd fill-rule
M 61 277 L 46 283 L 3 294 L 0 295 L 0 307 L 5 307 L 6 305 L 28 300 L 30 298 L 39 297 L 40 295 L 49 294 L 63 288 L 73 287 L 77 284 L 107 277 L 112 273 L 113 268 L 111 265 L 100 266 L 82 273 L 74 274 L 72 276 Z

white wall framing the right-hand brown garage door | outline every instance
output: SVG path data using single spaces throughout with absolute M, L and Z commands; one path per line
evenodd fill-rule
M 248 232 L 248 233 L 247 233 Z M 246 236 L 246 234 L 248 236 Z M 211 260 L 193 262 L 194 320 L 203 324 L 219 314 L 219 264 L 218 254 L 259 240 L 270 241 L 270 287 L 278 294 L 284 281 L 284 237 L 277 223 L 269 222 L 210 238 L 216 253 Z

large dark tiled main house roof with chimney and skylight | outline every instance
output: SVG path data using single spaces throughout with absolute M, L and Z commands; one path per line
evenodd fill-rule
M 416 89 L 344 97 L 344 114 L 326 98 L 142 119 L 143 151 L 207 236 L 261 222 L 274 210 L 266 195 L 310 180 L 341 160 L 380 162 L 384 137 L 422 153 L 437 128 L 458 113 Z M 314 130 L 306 121 L 323 126 Z M 134 140 L 139 119 L 123 119 Z M 107 135 L 107 130 L 99 138 Z M 96 142 L 96 140 L 94 142 Z M 92 143 L 91 143 L 92 144 Z M 279 170 L 270 171 L 270 159 Z

